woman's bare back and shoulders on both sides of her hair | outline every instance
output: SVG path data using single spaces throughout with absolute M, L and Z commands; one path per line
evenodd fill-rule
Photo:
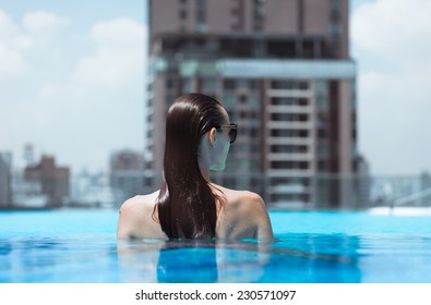
M 234 191 L 214 185 L 213 192 L 226 197 L 217 203 L 216 237 L 226 240 L 272 240 L 273 231 L 263 199 L 255 193 Z M 219 193 L 219 192 L 223 192 Z M 159 191 L 135 196 L 121 206 L 118 222 L 118 239 L 167 239 L 157 219 L 155 202 Z

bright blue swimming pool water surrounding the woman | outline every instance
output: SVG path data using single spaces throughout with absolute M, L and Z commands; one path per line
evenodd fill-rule
M 431 282 L 431 217 L 272 211 L 271 245 L 117 243 L 117 211 L 0 212 L 0 282 Z

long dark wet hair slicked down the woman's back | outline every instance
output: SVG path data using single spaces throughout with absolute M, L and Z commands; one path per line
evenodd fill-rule
M 199 167 L 202 136 L 224 124 L 222 103 L 203 94 L 175 100 L 166 118 L 164 174 L 156 200 L 161 230 L 169 239 L 215 237 L 224 198 L 212 192 Z M 153 212 L 154 217 L 154 212 Z

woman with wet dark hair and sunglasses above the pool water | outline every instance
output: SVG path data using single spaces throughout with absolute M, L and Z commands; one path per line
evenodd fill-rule
M 237 125 L 212 97 L 188 94 L 169 108 L 161 188 L 128 199 L 120 209 L 119 239 L 272 240 L 263 199 L 209 181 L 224 170 Z

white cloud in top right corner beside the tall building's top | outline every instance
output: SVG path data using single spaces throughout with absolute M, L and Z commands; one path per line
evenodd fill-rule
M 376 0 L 359 7 L 351 17 L 354 47 L 383 61 L 417 60 L 431 52 L 429 0 Z M 395 63 L 402 64 L 402 63 Z

